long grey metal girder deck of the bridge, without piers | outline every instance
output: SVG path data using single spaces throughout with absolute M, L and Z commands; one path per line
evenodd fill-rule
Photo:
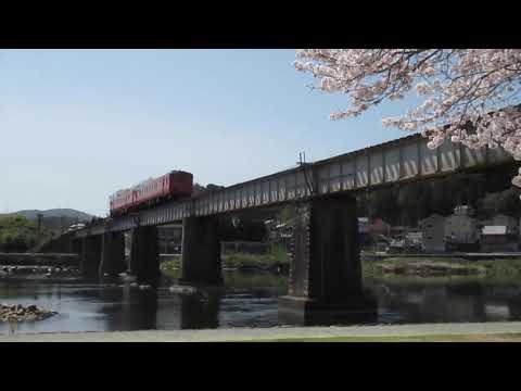
M 460 169 L 492 166 L 513 161 L 503 149 L 471 150 L 445 141 L 435 150 L 412 135 L 363 150 L 306 164 L 268 176 L 229 186 L 185 201 L 171 201 L 135 215 L 77 231 L 79 237 L 137 225 L 163 225 L 188 216 L 266 207 L 297 199 L 364 189 L 415 178 L 449 174 Z

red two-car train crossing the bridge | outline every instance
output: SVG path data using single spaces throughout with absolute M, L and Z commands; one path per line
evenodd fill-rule
M 130 189 L 116 191 L 110 197 L 111 216 L 122 215 L 163 200 L 190 197 L 193 175 L 174 171 L 158 178 L 145 180 Z

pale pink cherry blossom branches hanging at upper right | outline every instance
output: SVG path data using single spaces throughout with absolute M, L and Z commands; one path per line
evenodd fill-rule
M 520 49 L 305 49 L 294 66 L 317 89 L 344 93 L 351 108 L 332 119 L 358 116 L 415 88 L 425 100 L 384 126 L 420 131 L 429 148 L 445 139 L 469 148 L 503 148 L 521 160 Z M 448 125 L 447 125 L 448 124 Z M 521 187 L 521 169 L 512 184 Z

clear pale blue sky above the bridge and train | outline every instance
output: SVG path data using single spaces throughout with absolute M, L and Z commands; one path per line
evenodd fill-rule
M 0 51 L 0 212 L 104 215 L 117 189 L 170 169 L 229 186 L 406 136 L 381 117 L 329 119 L 294 50 Z

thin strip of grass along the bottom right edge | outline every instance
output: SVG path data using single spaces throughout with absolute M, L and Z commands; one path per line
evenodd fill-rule
M 259 339 L 243 342 L 521 342 L 521 333 L 445 335 L 411 337 L 318 337 Z

